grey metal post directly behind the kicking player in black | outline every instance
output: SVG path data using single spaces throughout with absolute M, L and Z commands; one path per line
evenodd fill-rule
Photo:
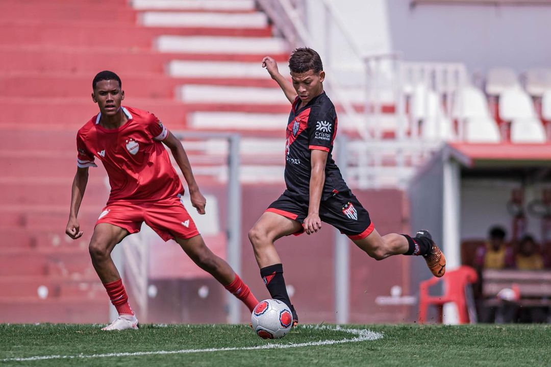
M 347 176 L 347 139 L 340 136 L 337 139 L 337 163 L 343 178 Z M 348 323 L 349 284 L 350 284 L 350 248 L 349 240 L 338 229 L 335 236 L 335 321 Z

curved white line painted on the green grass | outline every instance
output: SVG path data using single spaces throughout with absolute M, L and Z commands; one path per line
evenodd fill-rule
M 159 354 L 189 354 L 189 353 L 205 353 L 205 352 L 231 352 L 233 350 L 258 350 L 258 349 L 288 349 L 288 348 L 301 348 L 311 346 L 331 346 L 333 344 L 343 343 L 358 343 L 365 341 L 374 341 L 382 339 L 383 334 L 373 332 L 366 329 L 345 329 L 340 326 L 312 326 L 305 325 L 299 326 L 300 328 L 314 328 L 317 330 L 332 330 L 341 331 L 355 335 L 353 338 L 344 338 L 340 340 L 321 340 L 317 342 L 307 343 L 289 343 L 289 344 L 264 344 L 263 346 L 256 347 L 226 347 L 226 348 L 206 348 L 206 349 L 181 349 L 181 350 L 155 350 L 152 352 L 131 352 L 131 353 L 105 353 L 105 354 L 77 354 L 77 355 L 36 355 L 35 357 L 25 358 L 6 358 L 1 359 L 2 362 L 13 361 L 29 361 L 29 360 L 46 360 L 46 359 L 88 359 L 88 358 L 108 358 L 108 357 L 134 357 L 137 355 L 159 355 Z

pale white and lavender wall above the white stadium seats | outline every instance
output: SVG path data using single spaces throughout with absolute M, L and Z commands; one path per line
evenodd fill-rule
M 321 2 L 306 0 L 308 24 L 323 41 Z M 464 62 L 470 72 L 491 67 L 551 67 L 545 35 L 549 6 L 422 5 L 409 0 L 333 1 L 355 42 L 367 53 L 401 52 L 404 60 Z M 345 46 L 333 47 L 346 59 Z M 337 56 L 338 57 L 338 56 Z

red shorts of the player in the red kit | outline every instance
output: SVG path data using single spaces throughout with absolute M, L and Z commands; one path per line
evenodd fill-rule
M 192 238 L 199 234 L 180 197 L 176 196 L 148 203 L 111 203 L 103 209 L 95 225 L 109 223 L 129 233 L 138 233 L 143 222 L 165 241 L 175 237 Z

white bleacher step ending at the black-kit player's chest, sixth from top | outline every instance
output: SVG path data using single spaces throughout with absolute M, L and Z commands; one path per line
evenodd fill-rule
M 193 112 L 188 125 L 195 129 L 279 130 L 287 125 L 288 114 L 246 114 L 240 112 Z

